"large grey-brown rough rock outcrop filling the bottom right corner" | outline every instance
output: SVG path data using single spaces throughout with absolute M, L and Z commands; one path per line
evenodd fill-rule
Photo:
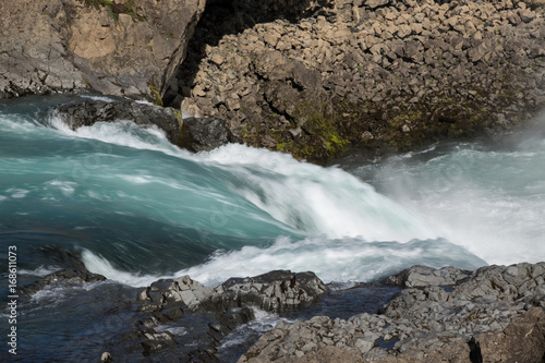
M 347 350 L 353 362 L 538 362 L 544 356 L 545 263 L 471 274 L 417 266 L 400 276 L 390 280 L 408 288 L 384 314 L 280 323 L 239 362 L 310 362 L 332 347 L 337 354 Z

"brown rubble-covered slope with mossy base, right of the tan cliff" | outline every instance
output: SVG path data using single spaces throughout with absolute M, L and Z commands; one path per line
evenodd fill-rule
M 170 102 L 227 119 L 247 144 L 311 160 L 498 132 L 545 105 L 535 1 L 300 5 L 271 20 L 256 1 L 210 3 Z

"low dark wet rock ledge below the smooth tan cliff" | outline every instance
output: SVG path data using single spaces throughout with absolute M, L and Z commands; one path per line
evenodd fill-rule
M 59 106 L 52 110 L 72 130 L 96 122 L 132 121 L 143 128 L 152 125 L 165 131 L 172 144 L 179 143 L 181 114 L 171 108 L 133 101 L 82 101 Z

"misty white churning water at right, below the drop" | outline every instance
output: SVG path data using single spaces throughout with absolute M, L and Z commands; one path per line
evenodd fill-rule
M 545 149 L 524 145 L 459 145 L 416 165 L 388 161 L 375 179 L 386 194 L 433 221 L 441 237 L 487 263 L 536 263 L 545 261 Z

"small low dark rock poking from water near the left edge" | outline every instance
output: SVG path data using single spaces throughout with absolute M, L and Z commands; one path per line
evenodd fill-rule
M 80 269 L 61 269 L 40 278 L 35 283 L 22 288 L 20 291 L 26 297 L 33 297 L 49 286 L 83 286 L 84 283 L 106 281 L 106 277 Z

